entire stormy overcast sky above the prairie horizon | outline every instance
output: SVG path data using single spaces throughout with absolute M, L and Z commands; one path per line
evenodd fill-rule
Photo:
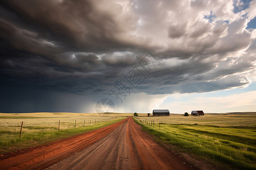
M 255 16 L 255 0 L 1 1 L 0 112 L 256 111 Z

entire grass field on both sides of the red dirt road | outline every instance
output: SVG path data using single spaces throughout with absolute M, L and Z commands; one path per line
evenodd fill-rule
M 0 154 L 98 129 L 128 116 L 133 113 L 0 113 Z M 147 117 L 139 113 L 135 120 L 160 142 L 216 167 L 256 169 L 256 113 L 195 117 Z

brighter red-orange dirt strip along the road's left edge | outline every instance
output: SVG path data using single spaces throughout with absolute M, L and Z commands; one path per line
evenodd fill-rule
M 87 133 L 75 135 L 73 137 L 60 139 L 59 141 L 47 143 L 16 155 L 10 155 L 8 158 L 1 158 L 0 169 L 44 169 L 69 155 L 84 149 L 86 146 L 97 142 L 101 138 L 111 133 L 125 120 L 104 128 L 89 131 Z

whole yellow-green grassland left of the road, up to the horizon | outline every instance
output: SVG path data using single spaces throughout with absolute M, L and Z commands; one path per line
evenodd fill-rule
M 0 113 L 0 154 L 98 129 L 131 115 L 121 113 Z M 22 121 L 22 134 L 19 138 Z M 60 130 L 58 130 L 59 121 Z

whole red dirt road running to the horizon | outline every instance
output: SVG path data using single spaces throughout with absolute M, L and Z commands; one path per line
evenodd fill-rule
M 0 160 L 0 169 L 195 169 L 133 118 Z

